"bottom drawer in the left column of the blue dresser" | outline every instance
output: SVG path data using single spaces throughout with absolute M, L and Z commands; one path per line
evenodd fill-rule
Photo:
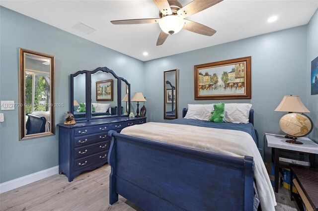
M 98 153 L 96 155 L 88 156 L 86 158 L 80 158 L 78 160 L 75 160 L 74 163 L 74 170 L 83 170 L 83 168 L 99 163 L 99 162 L 107 162 L 107 156 L 108 156 L 108 151 L 104 151 L 101 153 Z

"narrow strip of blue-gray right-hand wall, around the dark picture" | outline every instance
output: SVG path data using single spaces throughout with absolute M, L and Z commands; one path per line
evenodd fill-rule
M 308 23 L 307 27 L 307 108 L 311 111 L 308 115 L 314 122 L 314 130 L 309 135 L 318 143 L 318 95 L 311 95 L 311 62 L 318 56 L 318 10 Z

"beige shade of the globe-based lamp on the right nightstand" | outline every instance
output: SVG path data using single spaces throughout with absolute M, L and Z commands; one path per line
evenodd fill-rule
M 276 107 L 275 111 L 285 112 L 310 112 L 302 103 L 299 96 L 291 95 L 284 96 L 282 102 Z

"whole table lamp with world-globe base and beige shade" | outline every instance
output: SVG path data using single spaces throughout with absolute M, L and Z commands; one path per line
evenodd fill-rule
M 281 130 L 287 134 L 285 138 L 292 139 L 286 140 L 286 142 L 291 144 L 303 144 L 302 142 L 296 141 L 296 137 L 303 137 L 312 132 L 313 121 L 303 113 L 310 111 L 304 106 L 299 96 L 284 96 L 275 111 L 288 112 L 288 114 L 279 120 Z M 295 112 L 301 112 L 301 114 Z

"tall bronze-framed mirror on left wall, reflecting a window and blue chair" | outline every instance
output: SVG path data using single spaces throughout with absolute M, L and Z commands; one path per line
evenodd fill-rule
M 54 56 L 19 49 L 19 67 L 19 139 L 54 135 Z

